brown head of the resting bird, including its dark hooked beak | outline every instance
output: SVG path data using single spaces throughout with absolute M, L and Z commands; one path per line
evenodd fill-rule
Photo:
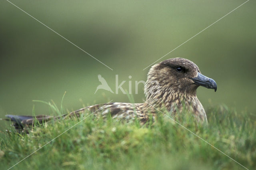
M 195 63 L 184 58 L 172 58 L 150 68 L 145 93 L 147 100 L 196 96 L 199 86 L 217 90 L 216 82 L 202 75 Z

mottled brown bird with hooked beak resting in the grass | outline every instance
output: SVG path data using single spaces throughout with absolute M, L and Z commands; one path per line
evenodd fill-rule
M 102 78 L 100 75 L 98 77 L 99 80 Z M 101 80 L 104 84 L 104 79 Z M 6 119 L 13 122 L 16 130 L 21 131 L 25 127 L 33 126 L 35 118 L 37 122 L 42 123 L 52 119 L 80 116 L 89 111 L 102 117 L 110 114 L 112 119 L 127 122 L 137 119 L 143 125 L 151 115 L 154 118 L 159 109 L 165 108 L 171 115 L 188 109 L 196 122 L 207 124 L 206 112 L 196 95 L 199 86 L 214 89 L 215 92 L 217 90 L 216 82 L 204 76 L 195 63 L 184 58 L 171 58 L 153 65 L 148 71 L 144 103 L 111 102 L 84 107 L 61 116 L 6 115 Z

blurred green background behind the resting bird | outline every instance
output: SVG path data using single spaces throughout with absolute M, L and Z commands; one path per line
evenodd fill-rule
M 102 65 L 9 2 L 0 1 L 0 118 L 48 114 L 50 101 L 76 110 L 107 99 L 128 102 L 119 91 L 98 90 L 98 74 L 115 91 L 115 75 L 146 81 L 144 69 L 234 8 L 243 0 L 68 1 L 12 0 L 22 10 L 78 45 Z M 214 79 L 218 90 L 198 88 L 205 108 L 226 104 L 256 115 L 256 2 L 249 1 L 161 59 L 184 57 Z M 105 96 L 102 95 L 105 93 Z M 144 99 L 143 87 L 133 95 Z M 82 102 L 81 102 L 82 101 Z M 3 123 L 0 124 L 3 126 Z

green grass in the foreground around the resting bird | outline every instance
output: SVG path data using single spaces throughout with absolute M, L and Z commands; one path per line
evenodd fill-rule
M 55 108 L 55 109 L 54 109 Z M 56 109 L 54 104 L 51 109 Z M 256 120 L 225 106 L 208 108 L 208 126 L 180 123 L 248 169 L 256 168 Z M 90 116 L 44 123 L 30 134 L 0 133 L 0 169 L 244 169 L 162 113 L 141 126 Z M 84 119 L 84 120 L 82 120 Z

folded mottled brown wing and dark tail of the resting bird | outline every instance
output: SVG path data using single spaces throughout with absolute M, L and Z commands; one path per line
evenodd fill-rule
M 138 105 L 138 104 L 137 104 Z M 98 105 L 92 105 L 84 107 L 77 111 L 73 111 L 68 114 L 59 116 L 49 116 L 49 115 L 38 115 L 38 116 L 20 116 L 20 115 L 6 115 L 6 120 L 11 121 L 14 128 L 18 133 L 26 132 L 29 133 L 30 128 L 35 126 L 36 123 L 42 124 L 47 121 L 56 121 L 58 119 L 65 119 L 68 117 L 80 117 L 82 113 L 94 113 L 94 115 L 100 114 L 106 117 L 109 113 L 112 118 L 119 120 L 132 121 L 135 117 L 145 123 L 148 116 L 144 114 L 141 108 L 136 107 L 136 104 L 132 103 L 103 103 Z

